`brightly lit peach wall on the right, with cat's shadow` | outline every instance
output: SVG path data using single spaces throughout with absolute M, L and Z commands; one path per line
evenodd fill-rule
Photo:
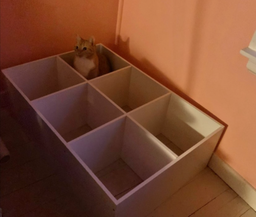
M 256 188 L 256 76 L 239 53 L 255 9 L 255 0 L 124 1 L 116 51 L 222 119 L 217 154 Z

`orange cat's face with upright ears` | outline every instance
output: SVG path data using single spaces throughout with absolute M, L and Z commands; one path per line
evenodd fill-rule
M 79 57 L 92 56 L 96 51 L 96 47 L 94 45 L 94 38 L 90 37 L 89 40 L 84 40 L 79 35 L 77 35 L 74 50 L 76 55 Z

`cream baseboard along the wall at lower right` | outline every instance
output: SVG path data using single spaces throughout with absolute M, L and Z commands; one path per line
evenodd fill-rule
M 213 154 L 208 166 L 256 211 L 256 189 L 232 167 Z

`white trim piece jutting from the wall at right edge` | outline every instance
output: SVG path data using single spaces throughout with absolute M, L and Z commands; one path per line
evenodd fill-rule
M 247 63 L 247 68 L 256 75 L 256 31 L 252 36 L 251 42 L 248 47 L 245 47 L 240 51 L 240 53 L 249 58 Z

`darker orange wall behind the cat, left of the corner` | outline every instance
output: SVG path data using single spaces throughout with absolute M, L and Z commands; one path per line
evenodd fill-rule
M 1 68 L 74 46 L 75 34 L 115 40 L 118 0 L 1 0 Z

